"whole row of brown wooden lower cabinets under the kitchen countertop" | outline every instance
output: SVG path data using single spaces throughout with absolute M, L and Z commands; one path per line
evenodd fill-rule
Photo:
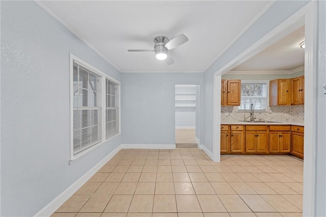
M 304 156 L 304 127 L 221 125 L 221 154 L 292 154 Z

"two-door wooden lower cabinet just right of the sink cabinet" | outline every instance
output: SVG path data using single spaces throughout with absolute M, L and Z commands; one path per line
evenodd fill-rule
M 269 152 L 289 153 L 291 151 L 291 127 L 289 125 L 269 126 Z

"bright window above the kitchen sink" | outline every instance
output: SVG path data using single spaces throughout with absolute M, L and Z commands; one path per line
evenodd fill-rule
M 241 80 L 241 99 L 238 111 L 249 111 L 250 105 L 254 110 L 266 111 L 268 106 L 268 80 Z

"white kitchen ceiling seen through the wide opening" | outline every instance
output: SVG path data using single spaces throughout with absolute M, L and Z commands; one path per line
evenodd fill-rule
M 305 26 L 259 52 L 231 71 L 291 71 L 305 65 Z

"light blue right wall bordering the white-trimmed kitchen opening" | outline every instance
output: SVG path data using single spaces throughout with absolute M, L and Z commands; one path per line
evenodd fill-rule
M 204 146 L 213 151 L 213 74 L 272 29 L 305 6 L 308 1 L 276 1 L 204 72 Z

